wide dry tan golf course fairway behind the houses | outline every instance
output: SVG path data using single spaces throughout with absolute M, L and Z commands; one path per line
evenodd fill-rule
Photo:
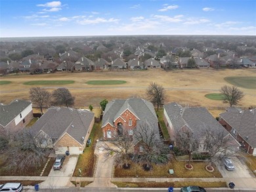
M 0 102 L 9 103 L 20 98 L 29 100 L 29 90 L 32 86 L 23 85 L 26 81 L 35 80 L 73 80 L 74 84 L 65 85 L 75 96 L 75 107 L 89 106 L 100 107 L 100 101 L 117 98 L 140 96 L 145 98 L 145 91 L 150 82 L 162 85 L 167 94 L 165 103 L 179 102 L 190 106 L 228 106 L 221 101 L 209 100 L 205 94 L 218 92 L 223 85 L 229 85 L 224 77 L 253 76 L 255 69 L 192 69 L 163 71 L 162 69 L 148 69 L 146 71 L 105 71 L 93 73 L 54 73 L 43 75 L 12 75 L 0 77 L 3 81 L 12 81 L 9 85 L 1 85 Z M 123 85 L 87 85 L 91 80 L 123 80 Z M 49 87 L 53 90 L 56 87 Z M 255 106 L 256 94 L 253 89 L 240 88 L 245 97 L 240 102 L 241 106 Z M 11 91 L 11 92 L 10 92 Z

